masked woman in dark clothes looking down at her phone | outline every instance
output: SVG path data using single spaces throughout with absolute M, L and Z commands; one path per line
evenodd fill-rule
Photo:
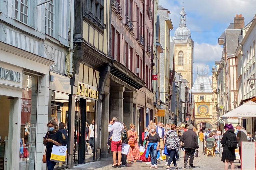
M 59 126 L 55 120 L 50 120 L 47 124 L 49 131 L 46 133 L 43 140 L 46 146 L 46 163 L 48 170 L 53 170 L 56 162 L 50 161 L 53 145 L 61 146 L 66 145 L 67 142 L 63 139 L 63 134 L 59 131 Z

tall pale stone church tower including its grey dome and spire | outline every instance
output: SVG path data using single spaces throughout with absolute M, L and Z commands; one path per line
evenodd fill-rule
M 194 42 L 191 39 L 190 30 L 187 28 L 186 16 L 184 7 L 182 7 L 180 26 L 176 29 L 172 40 L 174 42 L 175 71 L 181 73 L 191 89 L 193 86 Z

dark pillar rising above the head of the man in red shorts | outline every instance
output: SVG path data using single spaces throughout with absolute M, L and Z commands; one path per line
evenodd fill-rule
M 118 122 L 123 122 L 123 101 L 124 101 L 124 86 L 111 85 L 110 87 L 110 116 L 118 117 Z

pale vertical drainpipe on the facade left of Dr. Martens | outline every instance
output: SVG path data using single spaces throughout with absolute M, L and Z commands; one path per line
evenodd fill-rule
M 70 10 L 70 16 L 71 16 L 71 20 L 70 20 L 70 48 L 69 48 L 69 52 L 70 52 L 70 56 L 69 56 L 69 70 L 68 70 L 68 74 L 73 77 L 73 51 L 74 51 L 74 14 L 75 14 L 75 0 L 71 0 L 71 10 Z

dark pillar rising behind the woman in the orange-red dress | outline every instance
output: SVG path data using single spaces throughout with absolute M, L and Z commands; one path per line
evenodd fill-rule
M 124 106 L 123 106 L 123 123 L 129 128 L 130 124 L 135 124 L 133 112 L 134 103 L 136 103 L 137 93 L 135 91 L 124 92 Z

